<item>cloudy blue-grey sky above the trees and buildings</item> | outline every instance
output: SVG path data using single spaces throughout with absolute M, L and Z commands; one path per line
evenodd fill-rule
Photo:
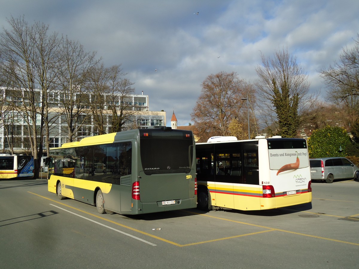
M 190 113 L 210 74 L 237 72 L 256 79 L 255 67 L 275 49 L 288 48 L 306 70 L 311 91 L 325 85 L 318 70 L 354 46 L 357 0 L 5 0 L 6 18 L 25 16 L 96 51 L 106 66 L 122 64 L 150 110 L 172 112 L 178 126 Z M 196 14 L 198 13 L 198 14 Z M 157 69 L 157 72 L 155 72 Z

